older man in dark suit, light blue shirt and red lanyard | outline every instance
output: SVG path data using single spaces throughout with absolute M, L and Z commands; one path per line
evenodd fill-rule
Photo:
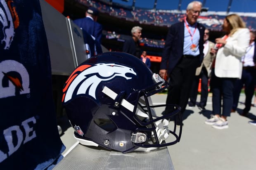
M 160 65 L 159 75 L 164 78 L 168 71 L 170 78 L 166 104 L 178 104 L 182 113 L 186 109 L 196 68 L 204 58 L 205 28 L 197 23 L 201 7 L 199 1 L 190 2 L 184 21 L 169 28 Z M 166 106 L 165 113 L 172 111 L 173 107 Z

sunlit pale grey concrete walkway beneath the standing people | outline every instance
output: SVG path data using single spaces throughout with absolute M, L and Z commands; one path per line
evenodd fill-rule
M 180 142 L 168 146 L 175 170 L 256 170 L 256 126 L 248 123 L 256 118 L 256 107 L 251 107 L 248 118 L 239 115 L 244 108 L 239 104 L 239 113 L 231 113 L 228 118 L 229 128 L 217 130 L 204 123 L 211 115 L 211 99 L 208 97 L 204 112 L 187 106 Z M 152 97 L 153 104 L 164 104 L 165 100 L 166 94 Z M 244 100 L 245 96 L 241 94 L 239 101 Z M 156 114 L 160 116 L 161 111 L 156 110 Z M 67 148 L 63 154 L 76 143 L 72 133 L 73 129 L 69 127 L 61 136 Z

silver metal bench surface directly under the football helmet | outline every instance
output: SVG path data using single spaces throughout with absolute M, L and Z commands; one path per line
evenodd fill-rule
M 121 153 L 77 144 L 53 170 L 174 170 L 166 147 Z

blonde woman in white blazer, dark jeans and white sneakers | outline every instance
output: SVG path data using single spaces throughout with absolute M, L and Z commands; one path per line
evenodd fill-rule
M 205 121 L 216 129 L 228 128 L 227 117 L 232 109 L 234 83 L 242 76 L 241 57 L 246 53 L 250 40 L 249 29 L 237 14 L 225 17 L 223 31 L 226 35 L 216 38 L 216 48 L 212 49 L 216 53 L 211 76 L 213 115 Z

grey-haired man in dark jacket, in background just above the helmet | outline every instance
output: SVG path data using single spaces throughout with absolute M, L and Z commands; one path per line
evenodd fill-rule
M 134 26 L 131 30 L 132 37 L 128 38 L 123 44 L 123 52 L 132 54 L 140 59 L 140 36 L 142 28 L 140 26 Z

